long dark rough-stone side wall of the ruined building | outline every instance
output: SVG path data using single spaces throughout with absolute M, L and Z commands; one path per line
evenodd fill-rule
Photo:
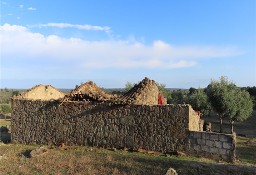
M 168 152 L 188 148 L 190 105 L 12 101 L 12 141 L 25 144 L 143 148 Z

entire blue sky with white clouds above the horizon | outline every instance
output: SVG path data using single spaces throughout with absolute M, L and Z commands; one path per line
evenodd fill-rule
M 255 0 L 1 0 L 1 88 L 256 86 Z

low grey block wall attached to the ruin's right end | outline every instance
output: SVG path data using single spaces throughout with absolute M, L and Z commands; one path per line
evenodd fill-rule
M 189 141 L 191 154 L 216 160 L 235 161 L 235 134 L 191 131 Z

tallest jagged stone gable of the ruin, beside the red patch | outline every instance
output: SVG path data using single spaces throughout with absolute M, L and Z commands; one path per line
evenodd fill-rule
M 158 86 L 154 80 L 145 77 L 139 84 L 130 89 L 124 98 L 129 104 L 157 105 Z

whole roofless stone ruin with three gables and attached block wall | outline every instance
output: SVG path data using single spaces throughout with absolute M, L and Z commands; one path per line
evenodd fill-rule
M 12 98 L 12 141 L 23 144 L 184 151 L 230 161 L 232 135 L 202 131 L 190 105 L 157 105 L 158 87 L 143 79 L 124 95 L 93 82 L 64 95 L 38 85 Z

